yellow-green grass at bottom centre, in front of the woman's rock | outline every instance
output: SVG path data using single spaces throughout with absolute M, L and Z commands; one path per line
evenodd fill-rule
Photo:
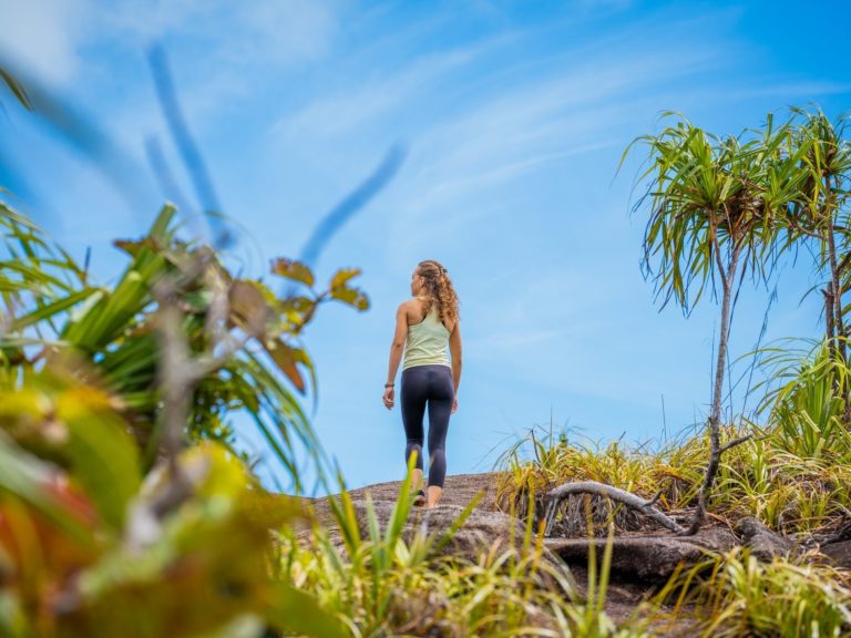
M 601 569 L 595 563 L 589 595 L 582 600 L 566 567 L 545 558 L 542 529 L 533 524 L 534 517 L 525 519 L 516 544 L 496 539 L 472 558 L 440 555 L 440 550 L 461 528 L 476 500 L 442 535 L 422 529 L 403 535 L 411 506 L 411 470 L 409 465 L 385 529 L 368 502 L 367 533 L 361 536 L 362 523 L 351 500 L 345 490 L 340 493 L 331 511 L 345 552 L 332 542 L 334 531 L 318 523 L 307 542 L 297 542 L 293 533 L 280 536 L 279 577 L 312 595 L 351 636 L 646 635 L 638 621 L 617 628 L 603 611 L 611 548 Z

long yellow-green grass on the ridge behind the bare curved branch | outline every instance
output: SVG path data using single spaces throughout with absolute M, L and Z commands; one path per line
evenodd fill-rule
M 751 439 L 721 457 L 710 501 L 710 512 L 716 516 L 755 516 L 776 532 L 794 535 L 830 529 L 851 508 L 851 463 L 838 463 L 827 449 L 820 456 L 808 455 L 806 450 L 790 451 L 788 432 L 749 421 L 741 428 L 725 426 L 721 432 L 722 442 L 746 433 Z M 536 450 L 527 460 L 522 457 L 525 443 Z M 521 516 L 526 516 L 531 493 L 541 494 L 571 481 L 598 481 L 645 498 L 659 494 L 660 508 L 683 511 L 695 503 L 708 450 L 703 433 L 668 442 L 658 450 L 646 444 L 626 446 L 615 441 L 603 446 L 552 436 L 546 446 L 530 434 L 501 457 L 496 502 L 503 511 L 513 503 Z M 540 504 L 541 498 L 537 501 Z M 556 515 L 554 534 L 586 534 L 586 502 L 592 504 L 593 522 L 602 534 L 613 510 L 604 498 L 582 495 L 565 500 Z M 623 508 L 614 523 L 621 532 L 647 524 L 642 515 Z

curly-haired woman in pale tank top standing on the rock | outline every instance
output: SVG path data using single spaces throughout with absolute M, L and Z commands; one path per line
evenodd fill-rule
M 420 261 L 411 275 L 413 299 L 396 311 L 396 333 L 390 346 L 390 370 L 385 384 L 385 405 L 393 407 L 393 380 L 404 350 L 401 398 L 402 423 L 408 442 L 406 463 L 417 454 L 412 487 L 414 505 L 426 503 L 422 491 L 422 418 L 429 407 L 429 496 L 428 507 L 437 507 L 447 475 L 444 446 L 449 415 L 458 410 L 461 381 L 461 330 L 458 295 L 447 269 L 431 259 Z M 452 354 L 450 364 L 447 346 Z

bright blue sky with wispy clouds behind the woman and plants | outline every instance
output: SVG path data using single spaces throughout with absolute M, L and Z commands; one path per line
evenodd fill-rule
M 551 419 L 593 440 L 658 439 L 706 413 L 717 307 L 659 312 L 638 267 L 644 217 L 629 214 L 639 157 L 616 176 L 621 154 L 659 130 L 664 110 L 718 133 L 788 105 L 844 111 L 850 14 L 844 2 L 0 0 L 0 55 L 134 158 L 142 195 L 130 205 L 14 110 L 0 121 L 0 150 L 14 157 L 3 183 L 113 277 L 123 261 L 109 241 L 142 233 L 161 199 L 144 141 L 156 136 L 180 166 L 145 62 L 160 41 L 224 210 L 245 229 L 234 263 L 249 274 L 298 255 L 388 148 L 407 150 L 316 265 L 320 278 L 362 268 L 372 302 L 365 313 L 325 306 L 306 335 L 312 422 L 350 486 L 403 471 L 401 416 L 381 387 L 394 309 L 427 258 L 447 266 L 462 302 L 450 474 L 489 470 Z M 801 301 L 818 284 L 809 258 L 775 284 L 766 340 L 819 333 L 817 297 Z M 746 285 L 734 358 L 755 344 L 768 298 Z M 731 409 L 752 408 L 742 401 L 735 392 Z

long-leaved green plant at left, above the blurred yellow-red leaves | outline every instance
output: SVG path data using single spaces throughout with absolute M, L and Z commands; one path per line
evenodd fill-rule
M 1 203 L 0 224 L 7 237 L 0 260 L 6 387 L 22 387 L 34 370 L 62 367 L 101 388 L 127 423 L 143 467 L 150 469 L 161 443 L 157 410 L 163 399 L 157 387 L 156 285 L 181 277 L 187 264 L 204 257 L 204 268 L 184 277 L 173 301 L 191 353 L 205 356 L 223 335 L 253 339 L 221 366 L 211 367 L 197 383 L 187 438 L 229 446 L 234 433 L 228 416 L 245 410 L 287 467 L 296 491 L 301 490 L 294 443 L 298 440 L 316 452 L 318 442 L 293 389 L 304 394 L 305 374 L 314 388 L 316 377 L 296 339 L 324 300 L 360 310 L 369 307 L 366 296 L 349 286 L 359 270 L 339 270 L 328 289 L 318 292 L 306 266 L 277 259 L 273 274 L 307 289 L 277 298 L 262 281 L 233 277 L 209 247 L 180 239 L 175 209 L 166 206 L 144 237 L 115 241 L 130 264 L 114 284 L 99 286 L 68 253 Z

